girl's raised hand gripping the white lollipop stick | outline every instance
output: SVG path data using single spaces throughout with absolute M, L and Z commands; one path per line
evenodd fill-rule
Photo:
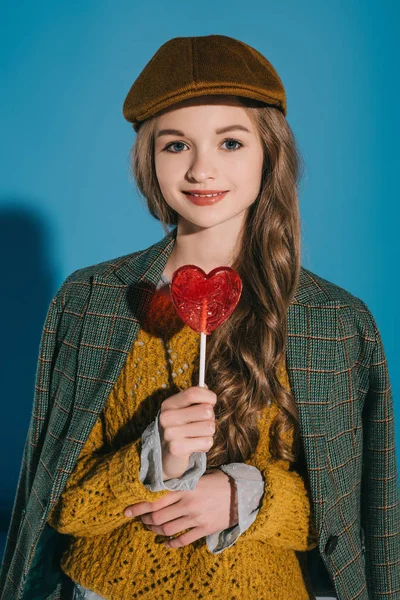
M 216 401 L 214 392 L 196 386 L 162 403 L 159 430 L 164 481 L 183 475 L 192 452 L 208 452 L 213 445 Z

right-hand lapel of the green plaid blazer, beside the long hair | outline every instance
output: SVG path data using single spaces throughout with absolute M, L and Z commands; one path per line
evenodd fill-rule
M 309 277 L 302 270 L 300 284 Z M 312 302 L 306 296 L 306 288 L 300 285 L 288 310 L 286 368 L 299 410 L 310 492 L 321 535 L 326 498 L 327 406 L 336 368 L 338 303 L 318 304 L 317 298 Z

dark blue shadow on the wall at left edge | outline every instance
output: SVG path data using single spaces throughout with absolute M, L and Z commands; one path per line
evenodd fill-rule
M 55 292 L 49 224 L 22 199 L 1 198 L 0 562 L 33 406 L 39 343 Z

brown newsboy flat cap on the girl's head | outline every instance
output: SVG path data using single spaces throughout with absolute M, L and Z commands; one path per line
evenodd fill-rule
M 164 108 L 210 94 L 260 100 L 286 116 L 285 89 L 274 67 L 258 50 L 226 35 L 165 42 L 134 81 L 123 115 L 138 131 L 142 121 Z

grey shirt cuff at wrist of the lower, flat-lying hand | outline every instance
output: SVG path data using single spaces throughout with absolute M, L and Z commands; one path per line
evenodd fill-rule
M 265 483 L 262 473 L 252 465 L 230 463 L 219 468 L 235 481 L 239 523 L 206 537 L 207 547 L 213 554 L 219 554 L 233 546 L 239 536 L 254 523 Z

